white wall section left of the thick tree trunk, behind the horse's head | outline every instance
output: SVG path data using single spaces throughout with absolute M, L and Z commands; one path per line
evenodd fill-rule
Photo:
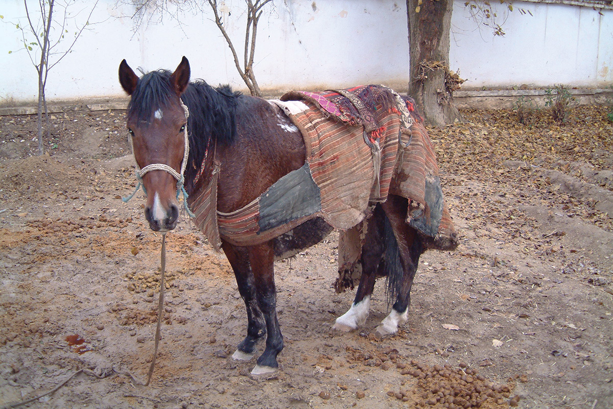
M 93 1 L 85 1 L 93 4 Z M 398 5 L 397 5 L 398 4 Z M 243 0 L 226 1 L 224 25 L 242 53 L 245 13 Z M 2 6 L 4 21 L 25 23 L 20 0 Z M 262 89 L 343 86 L 365 82 L 400 85 L 406 82 L 408 39 L 404 3 L 387 0 L 279 0 L 261 18 L 258 29 L 257 80 Z M 227 18 L 227 12 L 232 17 Z M 74 50 L 50 72 L 48 99 L 114 96 L 123 91 L 117 68 L 126 58 L 146 71 L 173 69 L 188 57 L 192 77 L 245 88 L 212 13 L 180 13 L 180 23 L 168 17 L 132 32 L 129 6 L 101 0 Z M 238 17 L 238 20 L 237 20 Z M 154 20 L 155 21 L 155 20 Z M 20 32 L 0 24 L 0 104 L 37 96 L 36 71 L 20 47 Z M 241 57 L 242 58 L 242 57 Z

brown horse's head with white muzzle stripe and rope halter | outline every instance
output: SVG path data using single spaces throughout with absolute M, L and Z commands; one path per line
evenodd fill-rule
M 187 112 L 180 97 L 188 86 L 189 62 L 183 57 L 175 72 L 153 71 L 139 78 L 124 59 L 119 81 L 131 96 L 127 125 L 147 194 L 145 218 L 151 230 L 172 230 L 179 215 L 177 182 L 187 161 Z

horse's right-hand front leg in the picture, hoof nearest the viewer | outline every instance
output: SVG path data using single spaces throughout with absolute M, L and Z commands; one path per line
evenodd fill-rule
M 276 356 L 283 349 L 283 335 L 276 318 L 276 288 L 273 262 L 275 254 L 272 242 L 248 248 L 249 263 L 253 272 L 256 288 L 257 305 L 266 321 L 267 338 L 264 353 L 257 358 L 257 365 L 251 371 L 253 375 L 271 373 L 279 367 Z

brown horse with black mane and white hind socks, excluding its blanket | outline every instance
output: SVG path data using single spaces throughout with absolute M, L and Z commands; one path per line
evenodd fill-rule
M 190 75 L 185 56 L 172 72 L 158 70 L 139 77 L 125 59 L 119 67 L 121 86 L 131 96 L 126 125 L 147 196 L 145 219 L 153 231 L 177 226 L 181 192 L 189 212 L 188 198 L 194 204 L 204 191 L 213 191 L 216 200 L 208 204 L 213 210 L 207 226 L 216 231 L 218 215 L 232 215 L 259 197 L 268 197 L 271 186 L 305 166 L 310 176 L 305 139 L 286 110 L 229 86 L 190 82 Z M 403 101 L 408 104 L 409 99 Z M 295 185 L 302 189 L 303 183 Z M 429 239 L 407 223 L 410 208 L 410 199 L 389 193 L 384 200 L 369 202 L 364 220 L 355 223 L 361 226 L 357 262 L 362 272 L 351 307 L 335 320 L 333 329 L 352 331 L 365 324 L 375 280 L 381 276 L 388 277 L 394 303 L 376 334 L 394 334 L 408 320 L 411 286 Z M 221 232 L 219 237 L 247 314 L 245 338 L 232 358 L 253 359 L 256 343 L 265 338 L 253 375 L 275 372 L 283 349 L 276 315 L 275 257 L 313 245 L 332 231 L 321 217 L 283 220 L 282 224 L 285 229 L 272 236 L 253 234 L 240 241 Z

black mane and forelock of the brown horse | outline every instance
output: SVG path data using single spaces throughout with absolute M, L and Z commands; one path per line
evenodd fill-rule
M 167 70 L 151 71 L 143 75 L 137 83 L 128 104 L 128 119 L 150 121 L 155 110 L 164 108 L 176 97 L 170 85 Z M 213 88 L 204 80 L 189 83 L 181 96 L 183 104 L 189 109 L 188 136 L 189 158 L 185 179 L 196 176 L 205 151 L 216 143 L 230 144 L 236 136 L 236 107 L 241 93 L 232 91 L 229 86 Z M 212 153 L 211 153 L 212 154 Z

